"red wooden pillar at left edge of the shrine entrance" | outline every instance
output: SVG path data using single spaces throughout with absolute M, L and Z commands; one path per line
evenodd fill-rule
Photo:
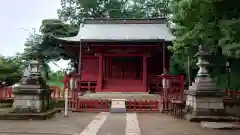
M 98 56 L 98 82 L 96 92 L 102 91 L 102 79 L 103 79 L 103 56 Z

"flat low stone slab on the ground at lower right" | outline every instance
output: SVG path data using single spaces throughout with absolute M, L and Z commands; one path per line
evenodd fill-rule
M 201 122 L 203 128 L 222 129 L 222 130 L 237 130 L 240 129 L 239 124 L 224 123 L 224 122 Z

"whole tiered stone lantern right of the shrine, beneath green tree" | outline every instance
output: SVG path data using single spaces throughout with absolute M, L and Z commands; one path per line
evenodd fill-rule
M 190 121 L 221 119 L 226 116 L 222 98 L 224 93 L 216 88 L 207 71 L 209 53 L 205 52 L 200 45 L 196 56 L 198 57 L 199 70 L 195 82 L 189 90 L 185 91 L 185 118 Z

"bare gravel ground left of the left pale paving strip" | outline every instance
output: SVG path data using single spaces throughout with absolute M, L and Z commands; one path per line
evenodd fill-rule
M 88 123 L 93 120 L 96 114 L 97 113 L 70 113 L 69 117 L 64 117 L 63 114 L 57 114 L 56 117 L 45 121 L 0 120 L 0 135 L 4 133 L 18 133 L 19 135 L 71 135 L 81 132 L 88 125 Z

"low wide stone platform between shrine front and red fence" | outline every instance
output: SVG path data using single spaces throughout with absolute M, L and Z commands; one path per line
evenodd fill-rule
M 86 93 L 80 99 L 131 99 L 131 100 L 160 100 L 161 96 L 147 92 L 99 92 Z

